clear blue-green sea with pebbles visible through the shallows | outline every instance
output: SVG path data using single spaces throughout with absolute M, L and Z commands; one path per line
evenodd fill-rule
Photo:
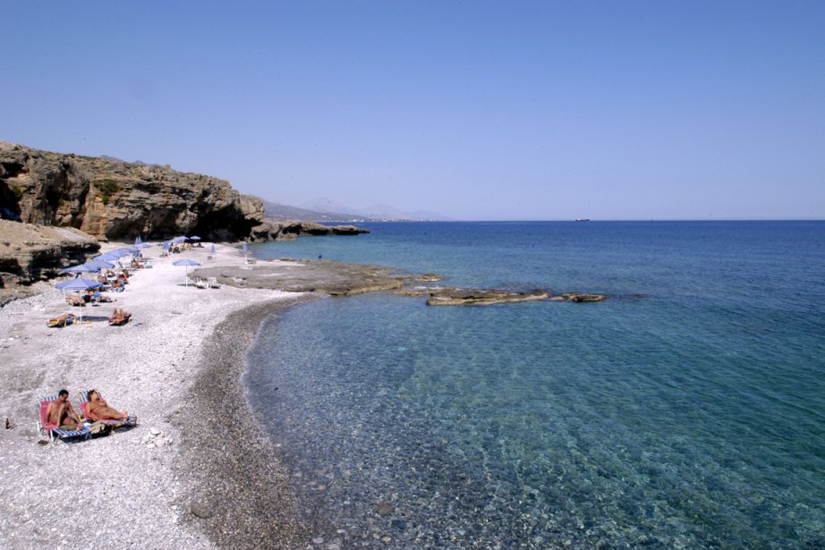
M 600 302 L 314 300 L 247 398 L 317 548 L 825 548 L 825 222 L 369 223 L 253 245 Z

